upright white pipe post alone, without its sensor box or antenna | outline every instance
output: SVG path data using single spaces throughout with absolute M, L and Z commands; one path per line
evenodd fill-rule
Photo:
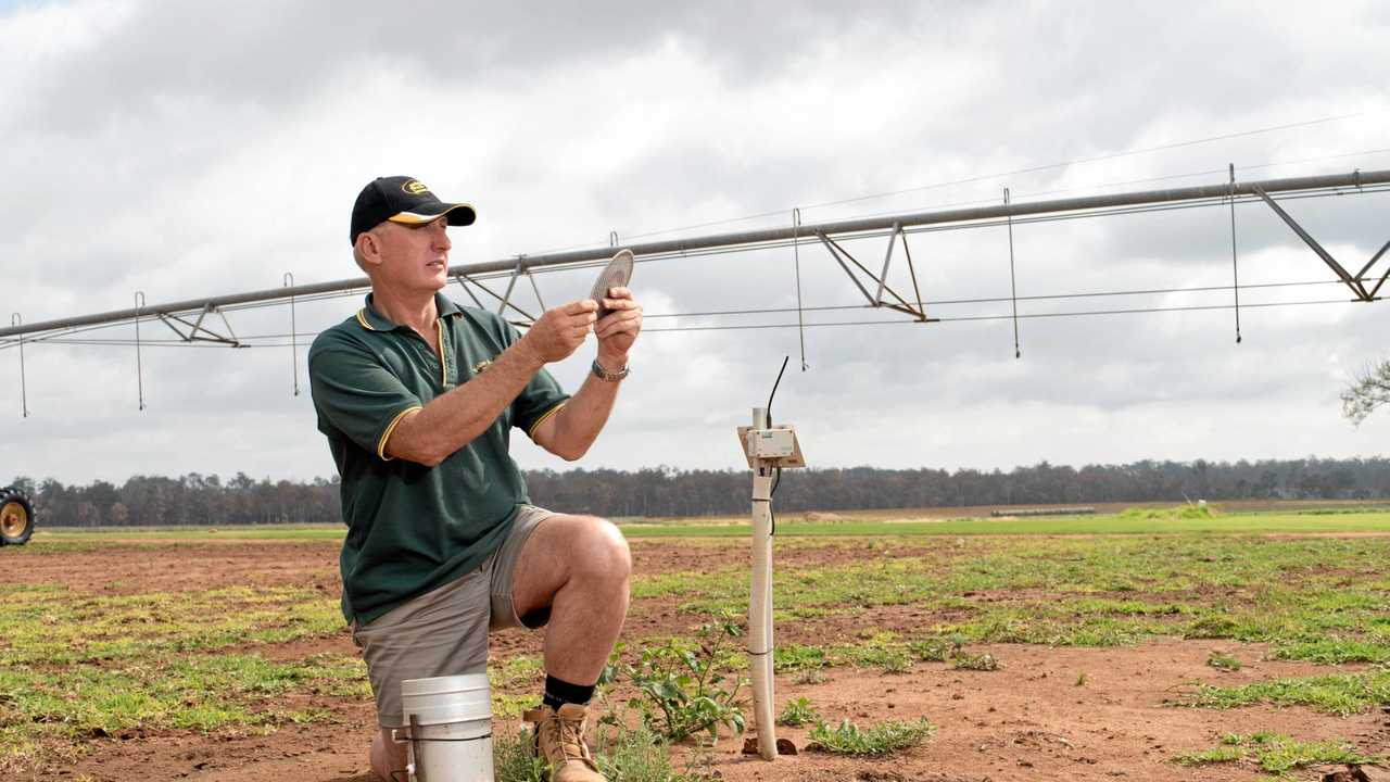
M 753 430 L 767 429 L 767 408 L 753 408 Z M 773 719 L 773 468 L 753 463 L 753 580 L 748 598 L 748 660 L 753 669 L 753 721 L 758 725 L 758 754 L 777 757 L 777 726 Z

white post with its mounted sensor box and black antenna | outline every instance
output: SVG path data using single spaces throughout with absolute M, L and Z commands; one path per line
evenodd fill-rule
M 783 362 L 783 370 L 787 363 Z M 781 380 L 781 374 L 777 374 Z M 777 392 L 776 384 L 773 394 Z M 766 408 L 753 408 L 753 424 L 738 427 L 738 440 L 753 469 L 753 577 L 748 597 L 748 662 L 753 679 L 753 724 L 758 726 L 758 754 L 777 757 L 777 728 L 773 719 L 773 516 L 774 476 L 783 468 L 805 468 L 796 430 L 773 426 L 771 398 Z

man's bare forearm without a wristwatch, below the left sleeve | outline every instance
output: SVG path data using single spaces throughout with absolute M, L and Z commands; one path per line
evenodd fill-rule
M 492 426 L 543 366 L 524 342 L 513 344 L 486 372 L 402 419 L 386 441 L 386 454 L 438 465 Z

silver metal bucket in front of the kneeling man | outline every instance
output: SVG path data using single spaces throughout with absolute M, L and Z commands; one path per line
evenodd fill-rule
M 486 673 L 406 679 L 400 700 L 410 725 L 410 778 L 492 782 L 492 693 Z

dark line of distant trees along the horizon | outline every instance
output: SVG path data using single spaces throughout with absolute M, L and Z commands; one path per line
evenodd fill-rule
M 531 500 L 571 513 L 703 516 L 748 512 L 748 470 L 531 470 Z M 40 525 L 284 525 L 336 522 L 339 481 L 254 480 L 236 473 L 135 476 L 121 486 L 64 486 L 17 477 Z M 1080 469 L 1047 462 L 1002 470 L 878 468 L 788 470 L 778 511 L 951 508 L 1195 500 L 1371 500 L 1390 497 L 1390 459 L 1134 462 Z

